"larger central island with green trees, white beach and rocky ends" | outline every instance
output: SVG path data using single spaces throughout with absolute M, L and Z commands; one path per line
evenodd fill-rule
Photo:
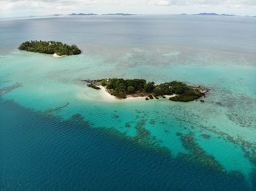
M 146 79 L 96 79 L 81 80 L 95 90 L 105 90 L 110 95 L 119 99 L 127 97 L 144 97 L 146 100 L 169 98 L 171 101 L 194 101 L 206 95 L 208 89 L 200 86 L 190 86 L 184 82 L 165 82 L 156 85 L 154 82 L 146 82 Z

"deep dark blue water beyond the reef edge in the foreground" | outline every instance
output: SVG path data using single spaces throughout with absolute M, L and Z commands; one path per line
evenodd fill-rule
M 249 190 L 244 179 L 118 139 L 79 117 L 61 121 L 0 100 L 0 122 L 0 190 Z

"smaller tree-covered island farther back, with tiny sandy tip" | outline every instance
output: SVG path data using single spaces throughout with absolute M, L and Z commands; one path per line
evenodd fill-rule
M 27 41 L 20 44 L 18 50 L 52 54 L 55 57 L 63 55 L 79 55 L 81 50 L 75 45 L 67 45 L 56 41 Z

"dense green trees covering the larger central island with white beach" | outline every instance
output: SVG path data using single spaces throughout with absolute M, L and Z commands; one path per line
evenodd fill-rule
M 146 82 L 145 79 L 101 79 L 100 85 L 118 98 L 127 98 L 127 95 L 152 95 L 158 98 L 164 95 L 176 95 L 171 97 L 173 101 L 192 101 L 205 95 L 199 87 L 191 87 L 184 82 L 165 82 L 155 85 L 154 82 Z M 152 94 L 152 95 L 151 95 Z M 151 95 L 151 96 L 149 96 Z

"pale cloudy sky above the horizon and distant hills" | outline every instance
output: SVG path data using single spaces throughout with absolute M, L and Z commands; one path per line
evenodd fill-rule
M 256 15 L 256 0 L 0 0 L 0 17 L 78 13 Z

